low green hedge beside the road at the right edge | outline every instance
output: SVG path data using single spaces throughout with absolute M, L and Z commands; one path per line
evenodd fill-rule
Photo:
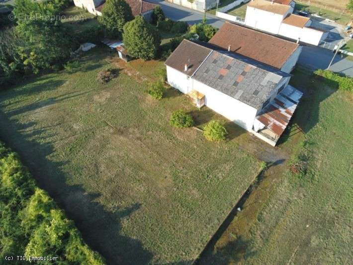
M 315 75 L 322 78 L 323 82 L 328 86 L 336 89 L 353 92 L 353 78 L 341 76 L 328 70 L 316 70 Z

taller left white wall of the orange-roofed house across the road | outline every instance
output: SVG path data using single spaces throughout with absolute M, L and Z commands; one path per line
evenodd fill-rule
M 247 26 L 278 34 L 282 20 L 283 15 L 247 6 L 245 15 L 245 24 Z

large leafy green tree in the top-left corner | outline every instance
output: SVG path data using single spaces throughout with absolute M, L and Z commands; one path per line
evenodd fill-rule
M 13 13 L 16 32 L 25 40 L 17 51 L 23 64 L 34 73 L 69 57 L 72 37 L 57 19 L 58 9 L 47 2 L 16 0 Z

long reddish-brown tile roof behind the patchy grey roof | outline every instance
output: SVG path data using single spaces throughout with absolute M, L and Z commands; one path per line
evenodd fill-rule
M 210 44 L 228 49 L 266 65 L 281 69 L 298 44 L 243 26 L 225 23 L 210 39 Z

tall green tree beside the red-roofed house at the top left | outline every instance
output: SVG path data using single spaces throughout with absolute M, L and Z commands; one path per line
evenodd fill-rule
M 103 25 L 106 34 L 121 39 L 126 22 L 134 19 L 131 7 L 125 0 L 106 0 L 102 15 L 98 21 Z

